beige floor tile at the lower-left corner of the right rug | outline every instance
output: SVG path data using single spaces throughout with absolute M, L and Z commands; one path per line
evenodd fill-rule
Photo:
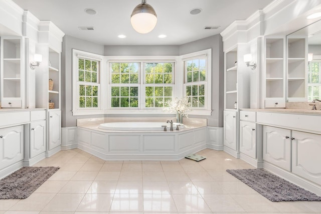
M 273 203 L 260 194 L 231 194 L 247 212 L 278 212 Z

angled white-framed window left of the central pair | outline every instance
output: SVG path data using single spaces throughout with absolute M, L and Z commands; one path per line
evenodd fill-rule
M 73 115 L 100 113 L 102 57 L 73 50 Z

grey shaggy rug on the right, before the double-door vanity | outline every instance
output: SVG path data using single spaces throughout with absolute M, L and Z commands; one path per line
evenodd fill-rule
M 321 197 L 316 194 L 264 169 L 227 169 L 226 171 L 271 201 L 321 200 Z

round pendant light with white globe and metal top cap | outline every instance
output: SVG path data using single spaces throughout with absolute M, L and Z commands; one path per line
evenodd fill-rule
M 130 23 L 138 33 L 147 34 L 156 26 L 156 12 L 150 5 L 146 4 L 146 0 L 142 0 L 141 4 L 137 5 L 132 11 Z

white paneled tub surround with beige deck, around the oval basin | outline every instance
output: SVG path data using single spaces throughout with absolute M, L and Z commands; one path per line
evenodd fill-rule
M 187 119 L 187 118 L 186 118 Z M 206 119 L 187 119 L 185 128 L 164 131 L 100 129 L 102 123 L 116 121 L 164 122 L 168 118 L 78 119 L 78 148 L 104 160 L 179 160 L 206 148 Z

